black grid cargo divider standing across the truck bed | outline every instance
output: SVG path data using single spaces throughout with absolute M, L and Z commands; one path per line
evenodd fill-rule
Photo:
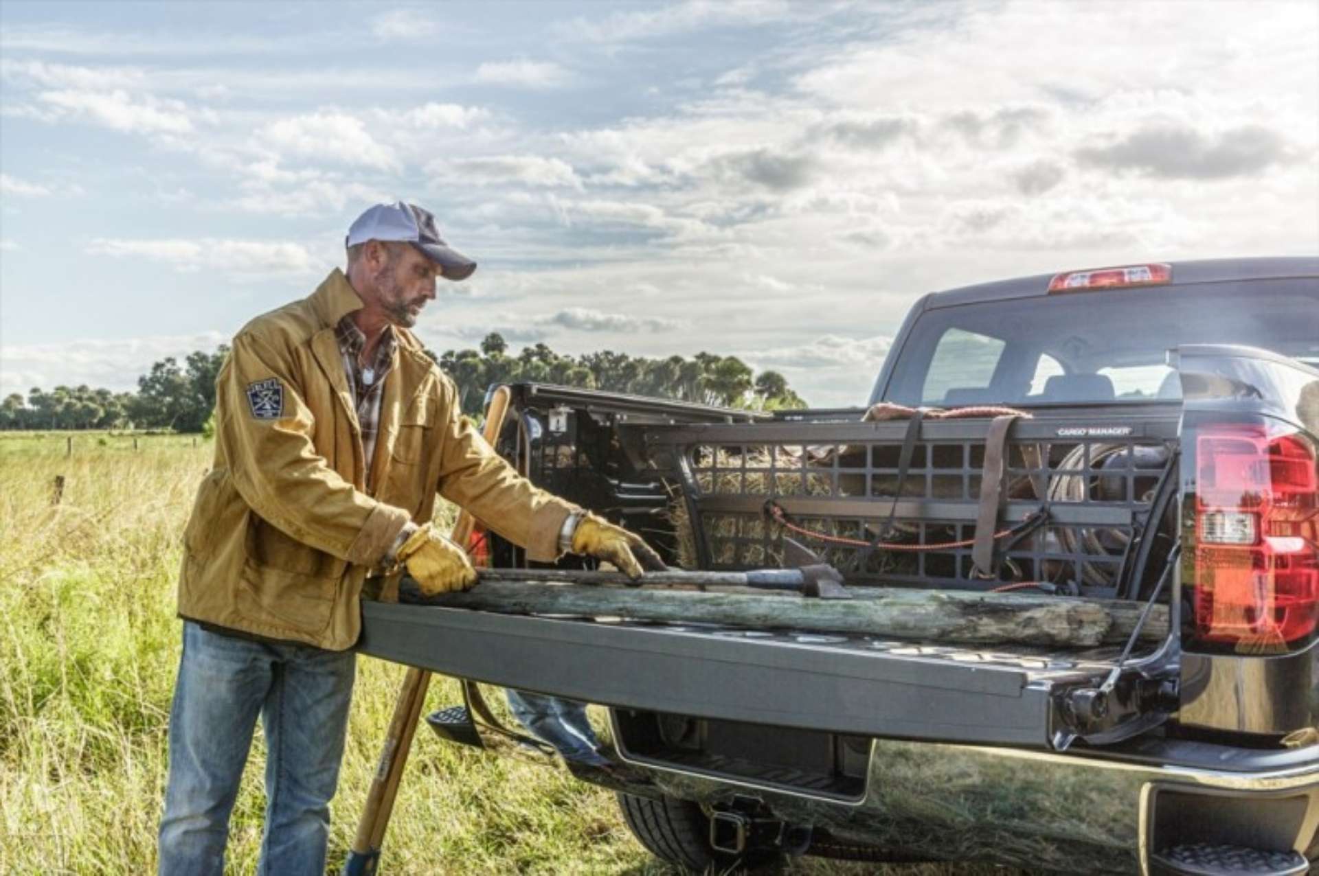
M 791 537 L 849 581 L 980 590 L 1049 582 L 1087 595 L 1116 595 L 1171 456 L 1159 440 L 1009 437 L 987 576 L 972 562 L 984 437 L 918 444 L 905 478 L 893 440 L 685 452 L 695 501 L 674 502 L 671 514 L 687 568 L 778 566 Z

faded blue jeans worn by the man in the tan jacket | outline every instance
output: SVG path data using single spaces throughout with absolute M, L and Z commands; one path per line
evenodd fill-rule
M 169 718 L 161 876 L 220 876 L 230 813 L 257 714 L 266 738 L 261 876 L 323 876 L 339 781 L 352 652 L 264 643 L 183 622 Z

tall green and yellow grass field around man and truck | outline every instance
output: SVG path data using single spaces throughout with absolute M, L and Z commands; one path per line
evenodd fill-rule
M 0 873 L 153 872 L 178 661 L 179 537 L 211 447 L 190 436 L 0 432 Z M 51 503 L 63 476 L 63 495 Z M 359 664 L 331 862 L 352 839 L 402 668 Z M 427 709 L 458 701 L 437 678 Z M 252 872 L 259 740 L 230 838 Z M 608 792 L 417 736 L 383 873 L 667 873 Z M 793 873 L 935 876 L 989 868 L 793 863 Z M 993 871 L 1002 872 L 1002 871 Z

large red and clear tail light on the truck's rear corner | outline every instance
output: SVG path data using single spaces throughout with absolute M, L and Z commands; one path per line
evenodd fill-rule
M 1194 640 L 1241 653 L 1308 644 L 1319 626 L 1319 461 L 1261 423 L 1195 431 Z

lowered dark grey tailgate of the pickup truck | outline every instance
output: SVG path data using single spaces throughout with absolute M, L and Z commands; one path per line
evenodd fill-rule
M 1104 660 L 807 634 L 364 603 L 361 653 L 609 706 L 834 732 L 1049 747 L 1050 692 Z

